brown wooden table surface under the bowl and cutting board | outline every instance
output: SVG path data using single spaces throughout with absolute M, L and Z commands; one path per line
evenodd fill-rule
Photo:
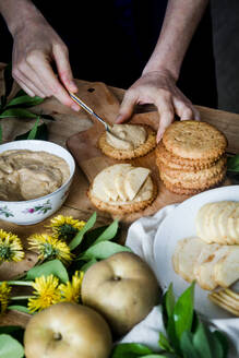
M 2 77 L 2 68 L 0 64 L 0 95 L 4 91 L 3 77 Z M 87 82 L 76 80 L 79 86 L 79 94 L 81 94 L 81 87 L 85 86 Z M 91 83 L 87 83 L 91 87 Z M 124 91 L 120 88 L 110 87 L 112 93 L 119 99 L 122 100 Z M 205 119 L 207 122 L 215 124 L 227 136 L 229 145 L 229 153 L 239 153 L 239 115 L 230 114 L 222 110 L 215 110 L 205 107 L 198 107 L 201 112 L 202 119 Z M 80 131 L 86 130 L 91 127 L 91 119 L 88 115 L 81 110 L 79 114 L 72 111 L 65 106 L 61 105 L 57 99 L 49 98 L 44 102 L 40 106 L 33 108 L 34 111 L 40 114 L 51 115 L 56 121 L 48 122 L 49 129 L 49 141 L 58 143 L 62 146 L 65 146 L 65 141 L 69 136 L 77 133 Z M 156 110 L 154 106 L 139 107 L 139 111 L 152 111 Z M 26 132 L 33 126 L 33 120 L 19 120 L 19 119 L 3 119 L 2 129 L 3 129 L 3 141 L 12 141 L 15 135 Z M 86 196 L 86 190 L 88 188 L 88 182 L 84 177 L 84 174 L 79 167 L 76 167 L 76 172 L 74 180 L 71 187 L 71 191 L 68 200 L 64 205 L 60 208 L 58 214 L 62 215 L 72 215 L 74 218 L 87 219 L 95 207 L 88 201 Z M 55 214 L 56 215 L 56 214 Z M 23 241 L 33 232 L 40 232 L 44 230 L 44 225 L 47 224 L 49 219 L 44 223 L 39 223 L 32 226 L 17 226 L 10 224 L 3 220 L 0 220 L 0 228 L 5 230 L 11 230 L 19 235 Z M 97 211 L 97 225 L 108 225 L 111 223 L 111 217 L 109 214 L 101 213 Z M 126 240 L 128 225 L 121 227 L 121 237 L 120 242 L 123 243 Z M 21 271 L 31 268 L 36 262 L 36 255 L 26 252 L 25 260 L 19 264 L 2 264 L 0 266 L 0 281 L 9 279 L 14 276 L 14 274 Z M 20 324 L 25 325 L 28 320 L 28 317 L 20 312 L 9 312 L 4 317 L 0 318 L 0 325 L 2 324 Z

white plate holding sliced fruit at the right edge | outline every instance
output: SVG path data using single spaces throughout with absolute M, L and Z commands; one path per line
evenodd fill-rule
M 195 236 L 195 215 L 201 206 L 224 200 L 239 201 L 239 186 L 212 189 L 194 195 L 177 206 L 162 223 L 154 241 L 154 259 L 156 276 L 163 289 L 172 283 L 175 295 L 179 297 L 189 287 L 190 284 L 177 275 L 172 267 L 171 258 L 176 243 Z M 210 319 L 231 318 L 230 313 L 211 302 L 207 295 L 207 290 L 195 285 L 194 307 L 199 313 Z

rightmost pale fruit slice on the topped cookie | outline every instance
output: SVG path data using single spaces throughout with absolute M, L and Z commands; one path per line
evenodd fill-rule
M 124 179 L 124 190 L 130 201 L 135 198 L 150 172 L 151 170 L 147 168 L 138 167 L 127 174 Z

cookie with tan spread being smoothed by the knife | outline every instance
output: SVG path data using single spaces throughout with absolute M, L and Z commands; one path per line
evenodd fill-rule
M 101 152 L 115 159 L 133 159 L 153 151 L 156 132 L 146 124 L 113 124 L 98 141 Z

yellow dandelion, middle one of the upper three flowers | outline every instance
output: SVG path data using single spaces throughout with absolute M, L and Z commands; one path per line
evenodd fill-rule
M 28 238 L 29 250 L 38 252 L 39 260 L 58 259 L 64 264 L 71 262 L 73 254 L 69 246 L 47 234 L 35 234 Z

